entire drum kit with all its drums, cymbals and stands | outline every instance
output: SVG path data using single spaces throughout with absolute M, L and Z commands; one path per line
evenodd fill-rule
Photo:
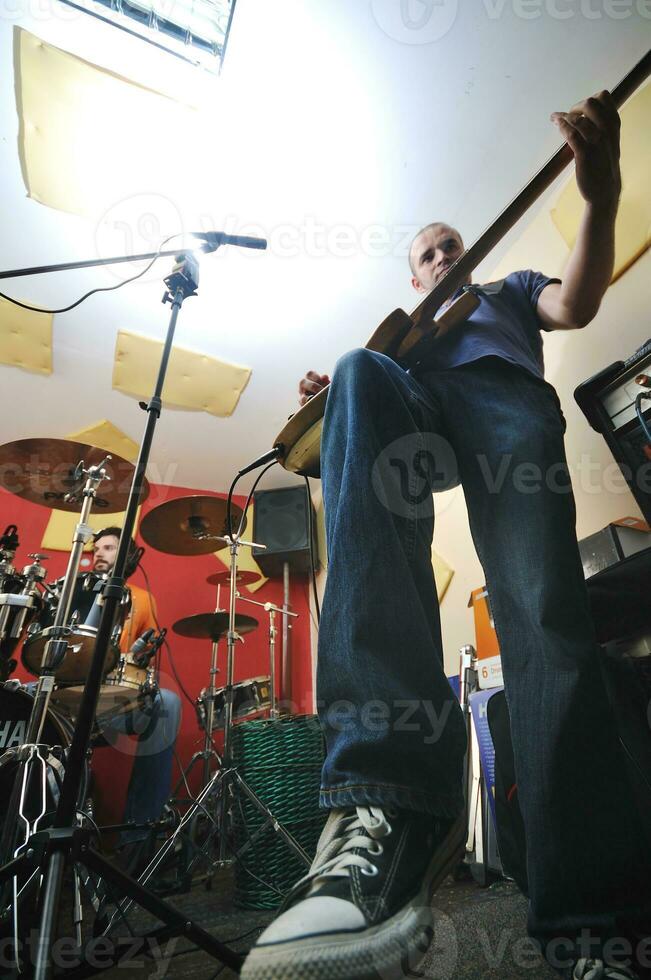
M 0 485 L 11 493 L 48 508 L 68 513 L 81 509 L 71 544 L 65 576 L 47 581 L 47 556 L 31 554 L 30 563 L 18 570 L 14 565 L 19 548 L 18 530 L 10 524 L 0 535 L 0 788 L 4 804 L 0 815 L 4 830 L 0 839 L 0 860 L 11 860 L 21 854 L 39 821 L 47 819 L 58 798 L 58 782 L 71 744 L 84 685 L 93 657 L 98 632 L 103 591 L 107 575 L 94 572 L 80 574 L 84 545 L 91 539 L 88 526 L 91 506 L 103 513 L 123 511 L 134 467 L 126 460 L 110 457 L 96 447 L 60 439 L 23 439 L 0 446 Z M 145 496 L 148 487 L 145 488 Z M 239 524 L 238 536 L 245 526 L 242 510 L 231 505 L 230 520 Z M 191 557 L 214 553 L 224 542 L 227 525 L 226 501 L 217 497 L 191 495 L 167 501 L 151 510 L 142 520 L 140 533 L 157 551 Z M 286 607 L 256 602 L 242 595 L 240 589 L 252 584 L 258 575 L 238 571 L 237 550 L 246 542 L 237 541 L 231 551 L 231 567 L 208 576 L 216 588 L 215 608 L 186 616 L 173 625 L 182 637 L 210 643 L 208 683 L 195 700 L 197 720 L 203 731 L 203 744 L 182 772 L 181 783 L 188 786 L 188 776 L 195 764 L 202 764 L 200 796 L 216 797 L 214 783 L 230 759 L 232 726 L 255 717 L 277 718 L 279 709 L 275 691 L 275 617 L 296 616 Z M 235 644 L 258 628 L 258 620 L 236 613 L 233 617 L 221 608 L 222 590 L 228 591 L 234 611 L 236 601 L 261 607 L 269 618 L 269 673 L 234 683 Z M 128 587 L 118 605 L 107 654 L 95 716 L 95 736 L 100 743 L 102 729 L 117 716 L 142 706 L 158 690 L 157 672 L 144 666 L 133 651 L 121 652 L 124 625 L 131 608 Z M 229 623 L 234 626 L 229 630 Z M 228 641 L 227 683 L 216 685 L 220 644 Z M 21 648 L 22 645 L 22 648 Z M 21 648 L 21 649 L 20 649 Z M 21 684 L 10 679 L 17 666 L 13 654 L 20 653 L 23 667 L 36 683 Z M 214 743 L 216 733 L 223 732 L 223 755 Z M 33 749 L 31 763 L 47 772 L 46 787 L 34 795 L 34 787 L 18 786 L 14 778 L 19 748 L 24 743 Z M 229 766 L 229 772 L 230 772 Z M 215 772 L 216 770 L 216 772 Z M 32 780 L 32 784 L 34 781 Z M 83 781 L 84 796 L 78 801 L 81 812 L 92 811 L 86 796 L 88 781 Z M 217 794 L 219 796 L 219 794 Z M 226 792 L 221 797 L 226 806 Z M 205 806 L 202 804 L 203 810 Z M 13 808 L 21 816 L 24 829 L 17 832 L 11 819 Z M 221 814 L 219 822 L 227 819 Z M 225 839 L 221 834 L 221 840 Z M 220 843 L 221 859 L 225 844 Z M 146 880 L 146 878 L 145 878 Z M 22 881 L 26 888 L 28 881 Z M 7 913 L 3 900 L 0 919 Z

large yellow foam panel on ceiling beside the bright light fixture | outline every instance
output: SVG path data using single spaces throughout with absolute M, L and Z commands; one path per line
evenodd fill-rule
M 203 129 L 196 108 L 14 33 L 19 155 L 29 197 L 96 219 L 116 202 L 178 189 L 180 145 Z

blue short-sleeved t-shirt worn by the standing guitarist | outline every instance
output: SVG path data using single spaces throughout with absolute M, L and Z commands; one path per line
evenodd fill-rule
M 432 344 L 417 373 L 446 370 L 480 357 L 503 357 L 543 378 L 542 337 L 548 329 L 536 311 L 538 297 L 550 282 L 560 282 L 541 272 L 512 272 L 499 282 L 471 286 L 479 306 L 465 323 Z M 460 296 L 460 287 L 452 298 Z

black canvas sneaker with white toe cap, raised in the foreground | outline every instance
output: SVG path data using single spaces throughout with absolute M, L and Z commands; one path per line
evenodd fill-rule
M 309 874 L 242 968 L 243 980 L 409 976 L 434 933 L 430 899 L 464 853 L 466 821 L 377 806 L 333 810 Z

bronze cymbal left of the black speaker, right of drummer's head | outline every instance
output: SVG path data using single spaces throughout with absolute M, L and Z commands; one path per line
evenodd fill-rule
M 241 517 L 242 508 L 232 504 L 233 531 Z M 219 551 L 225 543 L 215 539 L 226 533 L 226 501 L 202 494 L 167 500 L 145 514 L 140 533 L 152 548 L 168 555 L 208 555 Z

